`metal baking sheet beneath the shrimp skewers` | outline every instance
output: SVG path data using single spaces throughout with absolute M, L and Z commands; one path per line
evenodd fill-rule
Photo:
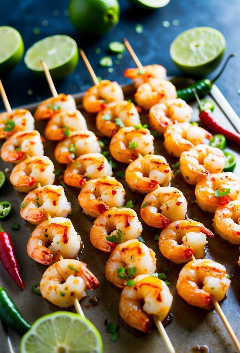
M 189 80 L 173 79 L 173 82 L 177 86 L 185 86 L 191 83 Z M 125 98 L 132 98 L 134 89 L 131 85 L 124 87 Z M 95 127 L 95 116 L 88 114 L 83 111 L 81 107 L 82 93 L 75 95 L 78 109 L 80 109 L 83 115 L 86 117 L 89 130 L 95 132 L 98 136 L 100 133 L 96 131 Z M 221 92 L 216 86 L 213 87 L 211 95 L 207 98 L 214 100 L 215 110 L 214 114 L 217 118 L 229 129 L 234 130 L 234 126 L 239 126 L 239 118 L 234 113 L 233 109 L 226 102 L 225 98 L 221 95 Z M 31 106 L 25 106 L 32 113 L 39 104 L 31 104 Z M 198 109 L 196 103 L 191 104 L 194 109 L 192 120 L 198 121 Z M 142 124 L 147 123 L 147 113 L 140 114 Z M 44 127 L 46 121 L 36 122 L 36 129 L 44 136 Z M 201 124 L 200 124 L 201 125 Z M 163 139 L 157 137 L 154 142 L 155 154 L 160 154 L 166 157 L 170 166 L 178 160 L 177 158 L 170 157 L 163 147 Z M 56 142 L 50 142 L 46 140 L 44 143 L 45 155 L 49 156 L 53 161 L 55 169 L 62 168 L 65 166 L 59 165 L 53 157 L 53 151 L 56 146 Z M 240 177 L 240 149 L 232 144 L 227 143 L 226 151 L 234 151 L 237 157 L 237 166 L 234 173 Z M 0 162 L 0 169 L 4 170 L 6 167 L 12 170 L 13 166 L 10 163 Z M 160 255 L 158 249 L 158 241 L 154 241 L 153 237 L 159 233 L 150 232 L 151 227 L 147 226 L 140 217 L 140 205 L 144 198 L 144 195 L 131 192 L 125 180 L 118 178 L 115 174 L 116 171 L 125 170 L 126 164 L 117 163 L 117 169 L 114 169 L 114 176 L 124 186 L 126 191 L 126 202 L 132 200 L 134 204 L 134 210 L 137 212 L 140 221 L 143 225 L 143 233 L 141 234 L 145 240 L 145 244 L 153 251 L 156 252 L 157 257 L 157 272 L 163 272 L 166 267 L 169 267 L 171 272 L 168 275 L 168 281 L 171 282 L 169 286 L 170 291 L 173 295 L 173 305 L 171 312 L 173 319 L 171 324 L 166 326 L 166 331 L 172 341 L 173 346 L 177 353 L 193 352 L 193 347 L 196 345 L 207 345 L 210 349 L 210 353 L 235 353 L 236 348 L 232 342 L 229 334 L 227 333 L 221 319 L 215 312 L 215 310 L 206 311 L 193 306 L 188 305 L 181 299 L 176 292 L 176 282 L 178 278 L 181 266 L 177 266 Z M 10 174 L 6 175 L 9 179 Z M 55 184 L 59 183 L 59 179 L 55 179 Z M 179 189 L 184 193 L 188 201 L 195 199 L 194 186 L 188 185 L 183 180 L 180 173 L 178 173 L 175 179 L 172 180 L 171 186 L 179 185 Z M 77 196 L 79 190 L 67 186 L 65 194 L 68 201 L 72 204 L 72 215 L 69 216 L 76 231 L 80 233 L 82 241 L 84 243 L 84 250 L 81 256 L 81 261 L 88 264 L 88 268 L 95 274 L 100 282 L 100 286 L 95 291 L 87 291 L 88 296 L 81 300 L 81 306 L 86 317 L 93 322 L 96 328 L 100 331 L 100 334 L 104 343 L 105 353 L 146 353 L 151 349 L 151 352 L 166 353 L 167 350 L 163 344 L 161 337 L 156 329 L 153 329 L 150 334 L 140 334 L 138 337 L 132 335 L 132 333 L 125 330 L 122 324 L 119 322 L 118 315 L 118 304 L 121 290 L 114 287 L 109 283 L 104 275 L 105 263 L 109 257 L 109 254 L 103 253 L 95 249 L 89 241 L 89 231 L 93 225 L 93 220 L 88 219 L 87 216 L 82 214 L 82 210 L 78 204 Z M 27 241 L 30 237 L 31 232 L 35 228 L 30 223 L 26 222 L 20 217 L 20 204 L 26 194 L 18 193 L 13 190 L 12 185 L 8 182 L 5 190 L 0 195 L 1 201 L 8 200 L 13 206 L 13 215 L 11 219 L 2 221 L 2 227 L 5 231 L 11 234 L 14 249 L 20 266 L 21 275 L 24 280 L 25 289 L 23 292 L 15 285 L 6 271 L 0 265 L 0 285 L 6 288 L 10 294 L 18 309 L 23 313 L 23 316 L 32 324 L 38 317 L 43 316 L 53 311 L 61 310 L 58 307 L 52 305 L 42 297 L 32 292 L 32 285 L 40 281 L 42 274 L 46 267 L 38 264 L 33 259 L 29 258 L 26 252 Z M 213 214 L 202 212 L 196 204 L 189 202 L 187 217 L 197 217 L 200 222 L 213 231 L 211 227 Z M 18 231 L 11 230 L 10 226 L 18 222 L 20 228 Z M 232 284 L 229 291 L 227 292 L 227 299 L 221 303 L 222 310 L 225 312 L 230 324 L 233 327 L 236 335 L 240 337 L 240 274 L 239 266 L 237 264 L 239 252 L 238 246 L 228 244 L 221 240 L 217 235 L 214 238 L 208 238 L 208 244 L 206 246 L 206 257 L 211 258 L 215 261 L 219 261 L 225 265 L 227 273 L 231 276 Z M 99 305 L 94 306 L 89 299 L 92 297 L 98 297 L 100 299 Z M 74 311 L 74 307 L 69 308 Z M 106 331 L 105 321 L 118 323 L 119 338 L 116 342 L 110 341 L 110 334 Z M 0 324 L 1 325 L 1 324 Z M 2 324 L 2 330 L 0 333 L 1 348 L 0 352 L 9 353 L 19 352 L 20 336 L 15 333 L 12 329 Z

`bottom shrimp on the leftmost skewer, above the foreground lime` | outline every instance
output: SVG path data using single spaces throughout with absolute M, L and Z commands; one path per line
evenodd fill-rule
M 84 262 L 62 259 L 46 269 L 40 281 L 40 292 L 52 304 L 67 308 L 75 298 L 86 297 L 85 289 L 96 289 L 99 281 Z

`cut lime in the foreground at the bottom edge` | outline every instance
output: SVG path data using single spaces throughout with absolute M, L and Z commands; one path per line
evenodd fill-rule
M 37 319 L 22 337 L 21 353 L 102 353 L 102 337 L 86 318 L 56 311 Z

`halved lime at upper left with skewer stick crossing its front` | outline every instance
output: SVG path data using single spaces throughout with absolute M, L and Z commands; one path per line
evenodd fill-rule
M 77 43 L 65 35 L 46 37 L 33 44 L 24 62 L 34 74 L 45 77 L 40 60 L 44 60 L 53 79 L 62 79 L 74 71 L 78 62 Z

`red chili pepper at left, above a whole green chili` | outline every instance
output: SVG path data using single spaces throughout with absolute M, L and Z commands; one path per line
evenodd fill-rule
M 12 277 L 16 285 L 23 290 L 24 284 L 20 275 L 18 262 L 13 249 L 12 239 L 8 233 L 6 233 L 0 224 L 0 260 L 7 271 Z

